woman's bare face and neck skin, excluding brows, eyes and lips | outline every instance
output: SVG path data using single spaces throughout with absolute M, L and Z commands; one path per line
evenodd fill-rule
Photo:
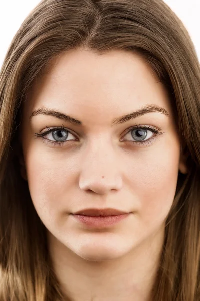
M 75 301 L 149 300 L 178 172 L 187 172 L 167 91 L 142 58 L 123 50 L 99 56 L 78 49 L 54 63 L 23 107 L 21 174 L 48 230 L 57 277 Z M 115 118 L 147 105 L 162 107 L 169 116 L 151 112 L 111 126 Z M 41 107 L 82 125 L 42 114 L 30 119 Z M 125 132 L 135 125 L 154 126 L 162 134 L 147 130 L 145 140 L 154 140 L 139 145 Z M 52 133 L 35 137 L 47 126 L 64 126 L 68 142 L 46 143 L 58 139 Z M 90 229 L 70 215 L 90 207 L 131 214 Z

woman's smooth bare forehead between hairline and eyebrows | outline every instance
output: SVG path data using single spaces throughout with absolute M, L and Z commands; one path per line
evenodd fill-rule
M 89 50 L 71 50 L 52 60 L 28 94 L 29 115 L 42 106 L 75 115 L 105 111 L 112 117 L 148 104 L 171 113 L 164 85 L 138 54 L 112 50 L 98 55 Z M 82 119 L 82 116 L 79 116 Z

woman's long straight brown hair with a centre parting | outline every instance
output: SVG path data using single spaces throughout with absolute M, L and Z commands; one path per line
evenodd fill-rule
M 189 172 L 178 175 L 152 300 L 198 301 L 200 68 L 188 32 L 162 0 L 44 0 L 14 36 L 0 72 L 0 301 L 64 300 L 20 175 L 19 127 L 33 80 L 79 47 L 137 52 L 170 93 Z

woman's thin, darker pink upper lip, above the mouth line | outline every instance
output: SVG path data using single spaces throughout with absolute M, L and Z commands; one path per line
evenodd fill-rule
M 79 210 L 73 214 L 88 215 L 88 216 L 110 216 L 110 215 L 120 215 L 125 213 L 128 212 L 121 211 L 114 208 L 105 208 L 105 209 L 87 208 L 87 209 Z

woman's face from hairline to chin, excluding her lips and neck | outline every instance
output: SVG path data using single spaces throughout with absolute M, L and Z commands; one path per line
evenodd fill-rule
M 108 260 L 163 238 L 184 164 L 167 92 L 138 55 L 61 55 L 28 95 L 21 138 L 32 202 L 52 244 Z M 72 215 L 86 208 L 131 214 L 91 227 Z

